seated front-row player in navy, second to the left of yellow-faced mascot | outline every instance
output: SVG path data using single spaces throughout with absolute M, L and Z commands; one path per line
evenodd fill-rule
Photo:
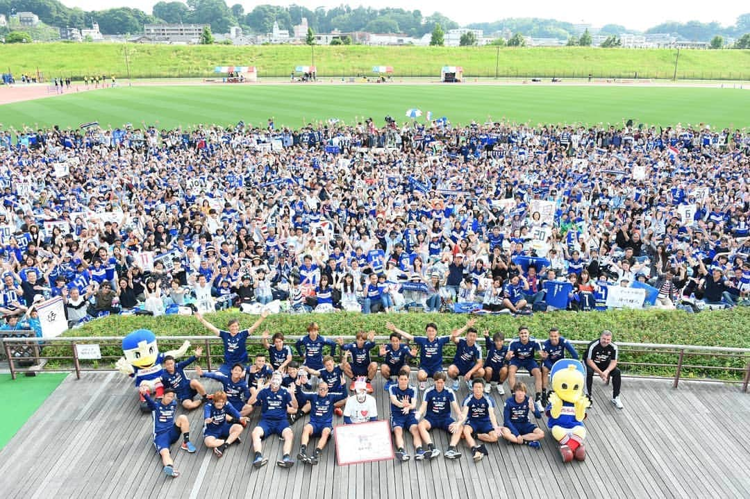
M 451 437 L 446 458 L 456 459 L 461 456 L 456 446 L 462 434 L 466 439 L 466 445 L 472 450 L 474 461 L 480 461 L 487 456 L 487 448 L 484 444 L 477 445 L 474 435 L 483 442 L 496 442 L 499 439 L 499 426 L 495 417 L 495 402 L 492 397 L 484 395 L 483 379 L 472 381 L 472 393 L 463 399 L 458 423 L 463 425 L 463 431 L 455 432 Z

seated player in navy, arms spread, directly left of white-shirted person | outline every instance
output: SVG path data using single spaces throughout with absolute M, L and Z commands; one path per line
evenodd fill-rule
M 290 391 L 296 391 L 296 385 L 290 385 Z M 320 454 L 326 447 L 328 440 L 333 432 L 333 410 L 334 404 L 341 400 L 347 399 L 344 392 L 329 392 L 328 384 L 319 383 L 318 393 L 305 393 L 302 390 L 296 391 L 298 404 L 307 404 L 311 406 L 310 421 L 302 429 L 302 438 L 299 447 L 297 459 L 309 465 L 317 465 L 320 461 Z M 312 456 L 308 456 L 308 444 L 311 437 L 320 437 L 317 447 Z

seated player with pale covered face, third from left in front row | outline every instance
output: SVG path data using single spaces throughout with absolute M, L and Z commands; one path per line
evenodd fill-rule
M 254 396 L 251 396 L 250 404 L 260 407 L 260 421 L 258 426 L 253 429 L 253 449 L 255 457 L 253 466 L 260 468 L 269 462 L 263 457 L 263 438 L 271 435 L 279 435 L 284 438 L 284 456 L 276 464 L 281 468 L 291 468 L 294 465 L 292 460 L 292 441 L 294 435 L 287 421 L 287 408 L 297 409 L 297 399 L 294 392 L 281 387 L 283 378 L 281 372 L 275 372 L 271 377 L 269 387 L 263 387 Z

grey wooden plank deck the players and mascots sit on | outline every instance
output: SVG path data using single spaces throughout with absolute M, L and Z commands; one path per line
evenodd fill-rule
M 384 417 L 389 409 L 380 381 L 375 395 Z M 673 390 L 668 381 L 625 379 L 625 410 L 618 411 L 608 392 L 595 384 L 583 463 L 562 465 L 547 438 L 541 450 L 493 444 L 478 464 L 463 449 L 456 461 L 441 456 L 340 467 L 329 444 L 320 465 L 285 470 L 273 465 L 281 441 L 271 438 L 264 448 L 269 465 L 258 471 L 250 465 L 249 429 L 239 447 L 216 459 L 202 446 L 197 410 L 189 417 L 198 452 L 187 454 L 175 444 L 172 456 L 182 475 L 170 479 L 161 472 L 151 418 L 136 407 L 130 381 L 117 372 L 88 373 L 80 381 L 71 375 L 0 452 L 0 497 L 750 498 L 750 395 L 722 384 L 682 381 Z M 462 388 L 460 396 L 465 393 Z M 302 424 L 293 426 L 295 456 Z M 434 440 L 446 449 L 445 434 L 435 432 Z

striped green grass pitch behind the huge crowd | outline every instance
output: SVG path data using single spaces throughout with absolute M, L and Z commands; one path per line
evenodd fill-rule
M 7 90 L 6 90 L 7 91 Z M 615 85 L 471 84 L 279 84 L 153 85 L 71 92 L 63 96 L 0 106 L 4 127 L 77 127 L 157 124 L 246 124 L 298 128 L 337 118 L 347 124 L 391 115 L 408 121 L 418 108 L 433 119 L 454 124 L 500 121 L 568 124 L 711 124 L 712 128 L 750 126 L 750 91 L 739 88 L 645 87 Z M 419 120 L 425 120 L 425 115 Z

